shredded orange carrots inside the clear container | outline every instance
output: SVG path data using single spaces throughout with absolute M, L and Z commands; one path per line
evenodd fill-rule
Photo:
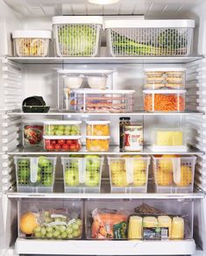
M 145 110 L 153 111 L 184 111 L 185 100 L 182 96 L 176 94 L 146 94 L 144 99 Z

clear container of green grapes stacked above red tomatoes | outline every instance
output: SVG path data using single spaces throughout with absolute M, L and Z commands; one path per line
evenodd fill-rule
M 77 136 L 81 135 L 81 121 L 46 121 L 44 135 L 46 136 Z

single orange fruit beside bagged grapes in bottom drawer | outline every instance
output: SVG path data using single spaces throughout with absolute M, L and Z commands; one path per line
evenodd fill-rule
M 19 228 L 25 235 L 32 235 L 37 227 L 39 223 L 34 213 L 28 211 L 20 217 Z

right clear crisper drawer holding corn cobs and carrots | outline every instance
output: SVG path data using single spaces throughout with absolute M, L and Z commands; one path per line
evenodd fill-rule
M 189 199 L 89 200 L 86 235 L 88 239 L 192 238 L 193 207 Z

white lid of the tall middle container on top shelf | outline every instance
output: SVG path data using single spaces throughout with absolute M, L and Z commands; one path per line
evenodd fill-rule
M 101 16 L 54 16 L 53 25 L 56 24 L 99 24 L 103 25 Z

